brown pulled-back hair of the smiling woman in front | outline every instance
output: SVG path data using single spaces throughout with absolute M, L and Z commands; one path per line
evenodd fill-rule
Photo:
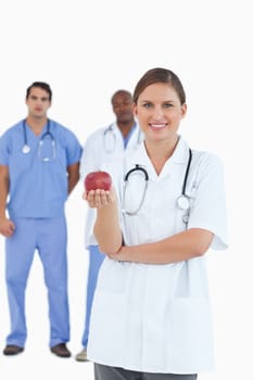
M 167 68 L 151 68 L 138 81 L 134 91 L 134 102 L 137 104 L 138 98 L 143 90 L 154 84 L 168 84 L 177 92 L 181 104 L 186 103 L 186 93 L 178 76 Z

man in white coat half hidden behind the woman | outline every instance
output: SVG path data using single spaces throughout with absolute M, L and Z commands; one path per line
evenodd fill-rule
M 142 141 L 142 132 L 134 116 L 131 93 L 123 89 L 117 90 L 112 96 L 111 102 L 116 119 L 110 126 L 94 131 L 87 139 L 80 163 L 80 177 L 83 181 L 88 173 L 100 170 L 104 163 L 123 160 L 126 152 L 129 152 L 129 150 L 134 151 Z M 104 259 L 104 254 L 100 252 L 93 236 L 94 215 L 94 210 L 89 208 L 85 231 L 86 248 L 89 251 L 86 320 L 81 339 L 83 350 L 76 355 L 76 360 L 78 362 L 87 360 L 86 347 L 89 337 L 90 312 L 99 268 Z

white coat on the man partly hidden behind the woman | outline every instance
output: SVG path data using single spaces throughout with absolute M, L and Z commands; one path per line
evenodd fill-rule
M 101 170 L 101 167 L 106 163 L 109 164 L 113 162 L 115 164 L 116 162 L 119 166 L 122 166 L 122 160 L 125 153 L 135 150 L 143 140 L 142 132 L 137 125 L 132 131 L 132 135 L 130 136 L 127 147 L 124 148 L 123 136 L 116 123 L 113 123 L 110 127 L 112 128 L 112 131 L 107 131 L 109 126 L 106 126 L 98 129 L 88 137 L 80 161 L 80 178 L 83 181 L 88 173 Z M 94 217 L 96 210 L 89 208 L 87 212 L 85 228 L 86 246 L 97 245 L 97 241 L 93 236 Z

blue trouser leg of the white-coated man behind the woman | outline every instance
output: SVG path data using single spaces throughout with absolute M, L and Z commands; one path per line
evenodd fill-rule
M 105 257 L 104 253 L 101 253 L 98 245 L 89 245 L 89 270 L 87 281 L 87 295 L 86 295 L 86 319 L 85 331 L 81 339 L 83 347 L 87 347 L 90 328 L 90 313 L 97 286 L 99 269 Z

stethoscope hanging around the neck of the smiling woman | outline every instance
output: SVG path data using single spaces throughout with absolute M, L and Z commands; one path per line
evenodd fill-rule
M 190 169 L 190 166 L 191 166 L 191 159 L 192 159 L 192 151 L 189 148 L 189 159 L 188 159 L 187 168 L 186 168 L 186 173 L 185 173 L 185 178 L 184 178 L 184 182 L 182 182 L 181 194 L 177 199 L 177 206 L 180 210 L 184 210 L 184 211 L 187 211 L 187 210 L 190 208 L 190 201 L 189 201 L 189 197 L 186 194 L 186 187 L 187 187 L 187 180 L 188 180 L 188 176 L 189 176 L 189 169 Z M 127 183 L 129 182 L 129 177 L 134 173 L 137 173 L 137 172 L 139 172 L 141 174 L 141 176 L 144 178 L 143 194 L 141 197 L 139 206 L 135 211 L 129 212 L 123 206 L 122 211 L 123 211 L 123 213 L 125 213 L 127 215 L 137 215 L 139 213 L 140 208 L 143 205 L 146 193 L 147 193 L 147 188 L 148 188 L 148 182 L 149 182 L 148 172 L 142 166 L 136 164 L 136 166 L 132 169 L 130 169 L 129 172 L 127 172 L 127 174 L 124 177 L 123 205 L 125 205 L 126 189 L 127 189 Z M 188 215 L 184 215 L 182 220 L 185 223 L 187 223 L 188 221 Z

